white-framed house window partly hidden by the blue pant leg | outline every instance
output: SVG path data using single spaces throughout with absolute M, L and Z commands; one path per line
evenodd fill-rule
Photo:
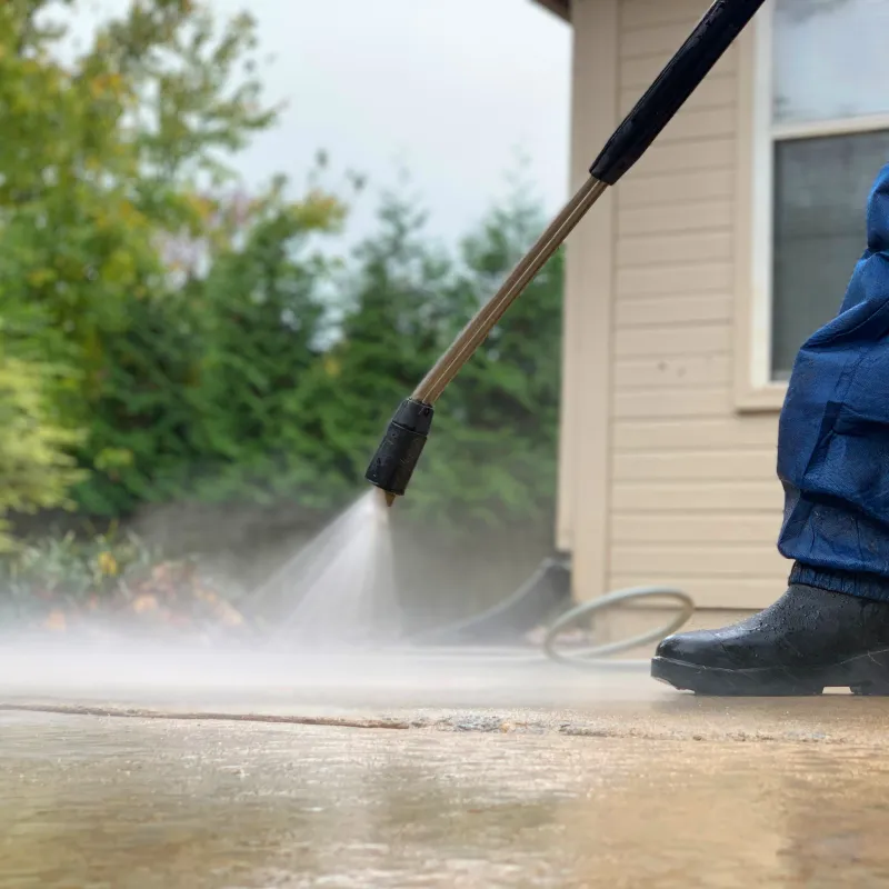
M 762 14 L 769 156 L 757 173 L 770 181 L 755 237 L 768 240 L 770 342 L 757 376 L 773 382 L 836 314 L 865 248 L 865 202 L 889 162 L 889 0 L 773 0 Z

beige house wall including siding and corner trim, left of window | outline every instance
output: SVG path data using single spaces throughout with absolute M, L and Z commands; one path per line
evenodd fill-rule
M 707 6 L 575 0 L 573 184 Z M 702 608 L 760 608 L 787 576 L 777 412 L 741 410 L 733 379 L 752 44 L 728 51 L 568 248 L 558 538 L 581 599 L 666 583 Z

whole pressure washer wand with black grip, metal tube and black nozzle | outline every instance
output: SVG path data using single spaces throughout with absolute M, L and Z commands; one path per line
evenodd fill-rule
M 765 0 L 716 0 L 599 157 L 590 178 L 476 313 L 389 423 L 364 478 L 389 506 L 404 493 L 432 426 L 433 404 L 587 210 L 642 157 Z

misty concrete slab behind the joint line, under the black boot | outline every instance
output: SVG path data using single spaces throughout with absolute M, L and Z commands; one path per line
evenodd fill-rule
M 647 662 L 581 671 L 515 650 L 294 657 L 171 650 L 0 651 L 0 708 L 267 717 L 649 740 L 881 746 L 889 699 L 708 699 Z

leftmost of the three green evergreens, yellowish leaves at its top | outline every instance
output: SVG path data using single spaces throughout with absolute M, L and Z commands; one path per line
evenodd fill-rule
M 202 282 L 194 393 L 202 499 L 308 500 L 317 469 L 304 457 L 304 390 L 324 352 L 331 264 L 311 252 L 310 239 L 341 216 L 322 196 L 301 203 L 277 196 Z

